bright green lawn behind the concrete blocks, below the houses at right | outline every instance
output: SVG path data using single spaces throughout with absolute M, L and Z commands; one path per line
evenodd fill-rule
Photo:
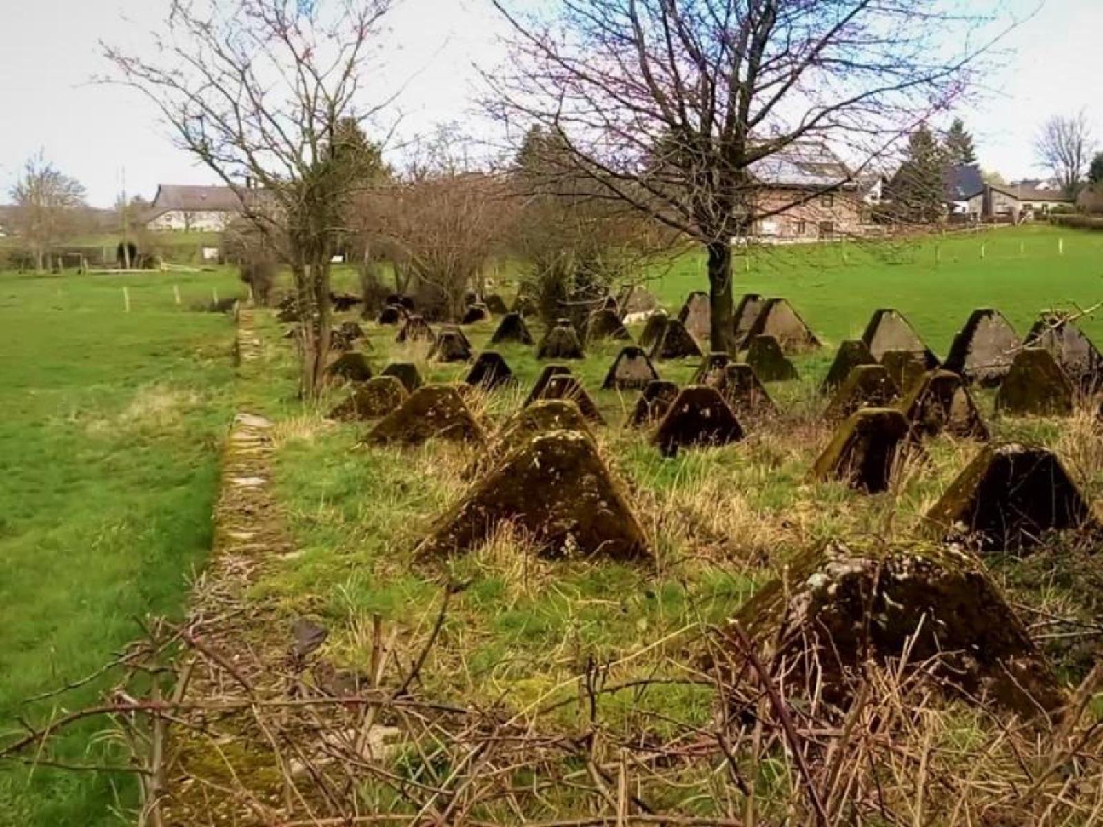
M 706 289 L 704 271 L 700 256 L 685 256 L 653 290 L 676 309 L 690 290 Z M 789 299 L 832 345 L 860 336 L 874 310 L 896 308 L 945 356 L 974 308 L 997 308 L 1025 333 L 1040 310 L 1103 301 L 1103 233 L 1031 226 L 921 243 L 760 248 L 749 269 L 736 259 L 735 292 L 737 301 L 745 292 Z M 1081 326 L 1103 343 L 1103 313 Z

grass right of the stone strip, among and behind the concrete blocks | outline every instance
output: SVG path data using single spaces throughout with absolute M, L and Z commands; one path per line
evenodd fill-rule
M 1060 237 L 1063 256 L 1057 249 Z M 835 345 L 860 335 L 874 309 L 900 309 L 944 355 L 975 307 L 999 308 L 1025 331 L 1039 310 L 1103 299 L 1103 236 L 1090 234 L 996 230 L 893 248 L 849 245 L 846 257 L 844 262 L 840 246 L 762 250 L 752 256 L 749 272 L 739 275 L 737 294 L 751 290 L 789 298 L 827 344 L 795 358 L 800 380 L 769 386 L 781 416 L 746 422 L 748 438 L 739 444 L 662 459 L 645 433 L 621 427 L 635 394 L 598 389 L 620 345 L 593 345 L 583 362 L 571 365 L 607 420 L 597 429 L 602 453 L 654 538 L 653 568 L 548 562 L 508 534 L 448 563 L 415 560 L 418 539 L 468 484 L 463 471 L 471 451 L 442 443 L 360 445 L 370 423 L 324 417 L 346 393 L 340 388 L 314 410 L 289 405 L 295 365 L 289 343 L 280 337 L 285 325 L 263 319 L 263 362 L 249 383 L 258 404 L 279 420 L 277 494 L 301 552 L 269 572 L 256 597 L 276 601 L 289 620 L 319 617 L 332 630 L 324 656 L 343 667 L 366 668 L 361 635 L 371 615 L 398 624 L 409 651 L 416 651 L 432 625 L 442 586 L 465 583 L 422 674 L 430 691 L 449 699 L 503 702 L 512 709 L 568 699 L 576 691 L 572 676 L 588 657 L 618 664 L 613 672 L 623 680 L 683 674 L 695 631 L 730 617 L 797 551 L 832 537 L 918 536 L 922 515 L 975 454 L 974 442 L 939 438 L 927 463 L 907 468 L 895 488 L 878 496 L 808 479 L 831 434 L 816 387 Z M 703 272 L 699 259 L 689 256 L 656 273 L 652 289 L 673 311 L 687 292 L 703 288 Z M 496 320 L 465 329 L 475 353 L 495 325 Z M 1096 318 L 1085 319 L 1083 326 L 1103 337 Z M 438 382 L 462 380 L 467 373 L 467 365 L 427 361 L 425 345 L 395 344 L 394 327 L 366 323 L 365 330 L 365 350 L 377 368 L 413 361 L 424 377 Z M 540 331 L 533 332 L 538 337 Z M 542 367 L 533 348 L 497 350 L 520 385 L 476 395 L 471 402 L 491 431 L 520 406 Z M 664 378 L 684 383 L 696 361 L 656 367 Z M 992 391 L 977 396 L 990 417 Z M 1052 447 L 1091 496 L 1103 494 L 1103 451 L 1089 414 L 990 423 L 997 439 Z M 1094 611 L 1094 598 L 1085 593 L 1091 589 L 1053 588 L 1063 582 L 1054 570 L 1064 566 L 1067 571 L 1068 560 L 1039 555 L 1028 565 L 1004 562 L 993 560 L 994 570 L 1017 599 L 1077 616 Z M 1094 580 L 1085 577 L 1084 582 Z M 1063 642 L 1052 649 L 1070 679 L 1090 666 L 1090 649 Z M 649 718 L 646 710 L 700 724 L 710 713 L 707 696 L 704 689 L 660 686 L 633 699 L 607 701 L 606 711 L 614 726 L 662 733 L 662 718 Z M 577 723 L 577 713 L 576 706 L 566 705 L 564 724 Z

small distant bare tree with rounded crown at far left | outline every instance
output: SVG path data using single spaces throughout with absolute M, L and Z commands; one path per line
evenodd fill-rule
M 83 218 L 84 185 L 58 171 L 42 153 L 28 159 L 11 189 L 12 228 L 26 244 L 34 267 L 45 269 L 50 249 Z

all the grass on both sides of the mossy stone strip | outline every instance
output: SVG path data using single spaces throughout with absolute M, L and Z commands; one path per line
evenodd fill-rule
M 705 289 L 703 273 L 699 257 L 687 255 L 656 268 L 649 288 L 676 312 L 690 290 Z M 739 443 L 685 450 L 674 459 L 661 457 L 646 431 L 622 427 L 634 391 L 599 389 L 620 343 L 589 346 L 571 369 L 606 420 L 595 428 L 599 451 L 652 540 L 653 561 L 633 565 L 548 560 L 508 530 L 454 559 L 417 559 L 419 539 L 470 485 L 478 449 L 438 440 L 367 447 L 362 440 L 371 422 L 326 416 L 347 396 L 340 385 L 303 406 L 296 399 L 293 344 L 282 336 L 287 325 L 269 311 L 256 312 L 259 354 L 235 378 L 231 323 L 186 310 L 190 296 L 207 298 L 212 287 L 229 294 L 229 273 L 181 282 L 183 308 L 169 287 L 175 277 L 160 273 L 4 276 L 0 325 L 17 335 L 6 333 L 6 357 L 15 358 L 6 358 L 0 376 L 4 410 L 13 411 L 0 423 L 0 455 L 9 469 L 0 480 L 7 572 L 0 623 L 17 645 L 0 653 L 0 712 L 10 722 L 22 712 L 21 698 L 93 672 L 135 636 L 131 616 L 179 613 L 185 577 L 203 565 L 210 545 L 218 449 L 237 405 L 274 422 L 272 495 L 296 547 L 265 565 L 248 591 L 251 603 L 278 619 L 268 627 L 275 640 L 309 617 L 329 631 L 318 663 L 330 674 L 363 673 L 373 657 L 365 630 L 379 622 L 395 630 L 396 663 L 413 660 L 439 635 L 417 689 L 442 704 L 501 706 L 516 715 L 552 709 L 540 726 L 566 737 L 586 732 L 598 716 L 607 737 L 625 743 L 707 729 L 715 715 L 711 689 L 685 679 L 696 674 L 702 630 L 722 625 L 808 547 L 831 538 L 918 536 L 923 515 L 977 451 L 972 440 L 939 437 L 923 462 L 906 464 L 892 488 L 878 495 L 810 479 L 833 430 L 817 387 L 838 342 L 860 335 L 875 309 L 892 307 L 945 356 L 974 308 L 1002 310 L 1022 333 L 1041 310 L 1103 300 L 1101 277 L 1103 234 L 1045 227 L 763 249 L 738 258 L 737 299 L 747 291 L 788 298 L 825 346 L 794 358 L 797 380 L 768 386 L 779 416 L 748 422 Z M 352 289 L 354 275 L 342 271 L 339 281 Z M 121 309 L 122 286 L 132 298 L 129 313 Z M 501 291 L 508 296 L 512 287 Z M 341 319 L 361 321 L 355 312 Z M 488 347 L 497 321 L 464 327 L 475 354 Z M 413 362 L 425 379 L 454 383 L 470 367 L 431 359 L 424 343 L 396 343 L 393 326 L 361 323 L 366 344 L 357 347 L 376 373 L 393 361 Z M 1080 325 L 1103 341 L 1100 314 Z M 631 332 L 638 336 L 640 327 Z M 534 323 L 534 336 L 542 333 Z M 522 405 L 543 367 L 533 347 L 494 350 L 518 383 L 468 396 L 489 432 Z M 698 362 L 655 366 L 681 385 Z M 997 418 L 990 390 L 978 391 L 977 400 L 996 439 L 1051 448 L 1086 496 L 1103 495 L 1094 410 L 1084 405 L 1065 419 Z M 1053 547 L 1026 561 L 997 555 L 987 562 L 1030 619 L 1091 623 L 1099 611 L 1103 570 L 1090 558 Z M 433 632 L 450 583 L 461 588 Z M 1039 643 L 1068 681 L 1083 678 L 1099 646 L 1090 635 L 1040 635 Z M 578 676 L 593 663 L 611 685 L 646 688 L 610 692 L 588 712 L 575 701 Z M 84 687 L 78 698 L 94 697 L 96 688 Z M 955 715 L 941 733 L 945 743 L 984 742 L 975 719 L 960 709 Z M 82 739 L 93 731 L 68 735 L 65 750 L 79 758 Z M 414 763 L 394 771 L 415 773 Z M 441 783 L 439 767 L 418 766 L 418 783 Z M 0 781 L 0 812 L 19 814 L 0 824 L 107 817 L 117 778 L 38 772 L 30 783 L 22 772 Z M 756 772 L 765 799 L 783 797 L 785 778 Z M 664 788 L 668 797 L 660 804 L 715 813 L 705 770 L 679 781 L 684 786 Z M 362 798 L 372 812 L 411 812 L 387 783 L 366 783 Z M 570 796 L 532 807 L 526 817 L 586 813 Z

